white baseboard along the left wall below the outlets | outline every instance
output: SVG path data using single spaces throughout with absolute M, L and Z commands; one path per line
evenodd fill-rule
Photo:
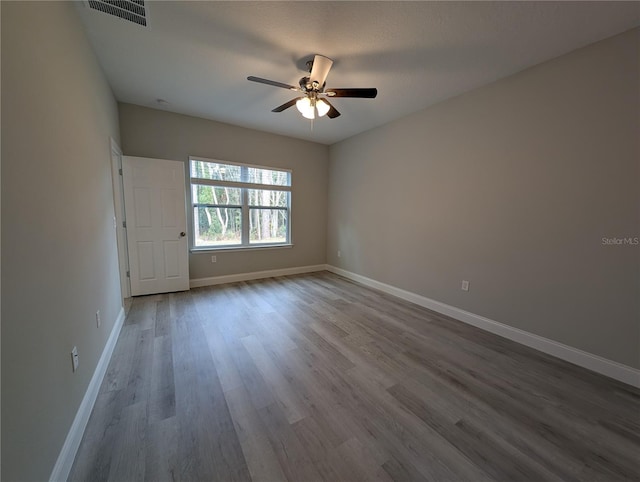
M 102 350 L 102 355 L 100 356 L 100 360 L 98 360 L 98 365 L 93 372 L 87 391 L 85 392 L 84 398 L 82 399 L 80 407 L 76 412 L 76 416 L 73 419 L 67 438 L 62 446 L 62 450 L 60 450 L 60 455 L 58 455 L 56 465 L 53 467 L 53 471 L 49 477 L 49 482 L 63 482 L 69 477 L 73 461 L 76 458 L 76 453 L 80 447 L 84 430 L 87 427 L 87 422 L 91 415 L 91 410 L 93 410 L 93 405 L 96 403 L 96 399 L 98 398 L 100 385 L 102 385 L 102 380 L 107 372 L 109 360 L 111 360 L 113 349 L 118 341 L 118 335 L 120 334 L 120 329 L 122 328 L 124 319 L 124 308 L 120 308 L 120 312 L 118 313 L 116 322 L 113 325 L 109 339 L 107 340 L 104 350 Z

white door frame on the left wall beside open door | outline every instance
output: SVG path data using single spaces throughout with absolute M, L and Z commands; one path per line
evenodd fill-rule
M 120 290 L 123 298 L 131 297 L 129 280 L 129 251 L 127 248 L 126 215 L 124 210 L 124 186 L 122 184 L 122 149 L 111 140 L 111 182 L 113 185 L 113 211 L 118 245 L 118 270 L 120 272 Z

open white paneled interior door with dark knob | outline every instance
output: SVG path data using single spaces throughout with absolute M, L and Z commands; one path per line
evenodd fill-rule
M 131 294 L 189 289 L 184 164 L 122 157 Z

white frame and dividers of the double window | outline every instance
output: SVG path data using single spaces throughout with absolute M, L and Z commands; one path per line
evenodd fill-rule
M 210 162 L 216 164 L 224 164 L 224 165 L 232 165 L 239 166 L 241 168 L 241 181 L 222 181 L 216 179 L 204 179 L 200 177 L 192 176 L 192 164 L 193 161 L 201 161 L 201 162 Z M 285 172 L 288 174 L 288 186 L 282 186 L 277 184 L 259 184 L 249 182 L 248 170 L 250 168 L 255 169 L 265 169 L 269 171 L 278 171 Z M 189 162 L 187 164 L 188 169 L 188 200 L 189 200 L 189 231 L 190 231 L 190 246 L 189 250 L 191 252 L 206 252 L 206 251 L 233 251 L 233 250 L 246 250 L 246 249 L 273 249 L 280 247 L 291 247 L 291 192 L 293 185 L 293 171 L 291 169 L 281 168 L 281 167 L 273 167 L 267 165 L 258 165 L 258 164 L 248 164 L 244 162 L 234 162 L 234 161 L 223 161 L 220 159 L 209 159 L 206 157 L 199 156 L 189 156 Z M 194 185 L 205 185 L 212 187 L 230 187 L 230 188 L 238 188 L 240 189 L 240 197 L 241 204 L 207 204 L 207 203 L 197 203 L 193 199 L 193 186 Z M 249 204 L 249 190 L 268 190 L 268 191 L 284 191 L 287 193 L 287 200 L 285 207 L 278 206 L 252 206 Z M 235 208 L 240 209 L 241 211 L 241 234 L 240 234 L 240 244 L 221 244 L 221 245 L 210 245 L 210 246 L 197 246 L 196 245 L 196 236 L 195 236 L 195 216 L 194 211 L 195 208 L 201 207 L 224 207 L 224 208 Z M 287 213 L 287 234 L 286 240 L 284 242 L 278 241 L 273 243 L 252 243 L 250 241 L 251 233 L 250 233 L 250 220 L 249 215 L 251 209 L 272 209 L 272 210 L 280 210 L 285 211 Z

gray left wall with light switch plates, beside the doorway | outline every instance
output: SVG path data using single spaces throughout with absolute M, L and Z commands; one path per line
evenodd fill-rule
M 1 8 L 2 480 L 47 480 L 122 305 L 117 104 L 70 3 Z

